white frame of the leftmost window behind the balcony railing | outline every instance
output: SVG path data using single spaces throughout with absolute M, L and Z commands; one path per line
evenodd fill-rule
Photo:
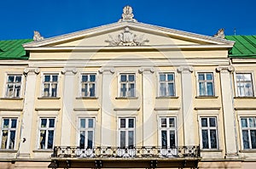
M 80 120 L 84 119 L 85 120 L 85 127 L 82 128 L 80 126 Z M 93 127 L 89 127 L 89 119 L 93 120 Z M 96 117 L 91 117 L 91 116 L 79 116 L 78 117 L 78 131 L 77 131 L 77 145 L 80 146 L 80 132 L 85 132 L 85 136 L 84 136 L 84 148 L 81 149 L 90 149 L 88 147 L 88 132 L 92 132 L 93 133 L 93 137 L 92 137 L 92 146 L 91 148 L 93 148 L 95 146 L 95 132 L 96 132 Z

